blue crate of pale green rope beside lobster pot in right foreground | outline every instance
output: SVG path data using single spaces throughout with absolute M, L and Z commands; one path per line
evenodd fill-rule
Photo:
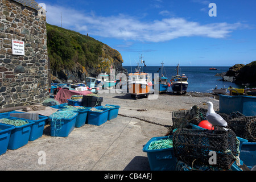
M 169 136 L 169 138 L 172 136 Z M 151 138 L 143 147 L 143 152 L 147 152 L 148 162 L 151 171 L 175 171 L 177 159 L 174 156 L 174 148 L 162 148 L 156 150 L 148 150 L 150 143 L 155 140 L 167 139 L 168 137 Z

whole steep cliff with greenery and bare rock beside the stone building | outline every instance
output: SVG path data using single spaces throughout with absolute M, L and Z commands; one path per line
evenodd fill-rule
M 47 24 L 47 47 L 52 81 L 97 77 L 101 72 L 125 73 L 121 54 L 90 36 Z

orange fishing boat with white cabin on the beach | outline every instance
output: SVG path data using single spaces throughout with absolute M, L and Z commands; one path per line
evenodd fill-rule
M 141 57 L 141 62 L 144 63 Z M 141 72 L 141 68 L 138 64 L 135 73 L 129 73 L 129 93 L 131 97 L 138 98 L 139 96 L 148 97 L 150 93 L 150 87 L 152 86 L 151 77 L 148 73 Z

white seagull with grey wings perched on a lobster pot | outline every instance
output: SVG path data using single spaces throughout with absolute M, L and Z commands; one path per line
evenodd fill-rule
M 224 126 L 224 127 L 228 126 L 228 123 L 220 115 L 215 113 L 215 111 L 213 110 L 212 102 L 207 102 L 207 105 L 208 105 L 208 110 L 207 110 L 206 118 L 208 122 L 216 126 Z

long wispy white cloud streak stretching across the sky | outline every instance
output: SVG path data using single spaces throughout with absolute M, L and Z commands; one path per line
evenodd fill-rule
M 139 18 L 124 14 L 97 16 L 94 13 L 86 14 L 65 7 L 50 5 L 47 6 L 47 22 L 60 26 L 60 13 L 64 28 L 85 35 L 88 33 L 91 36 L 142 42 L 165 42 L 183 36 L 226 38 L 233 30 L 242 27 L 241 23 L 200 24 L 184 18 L 165 18 L 143 22 Z

